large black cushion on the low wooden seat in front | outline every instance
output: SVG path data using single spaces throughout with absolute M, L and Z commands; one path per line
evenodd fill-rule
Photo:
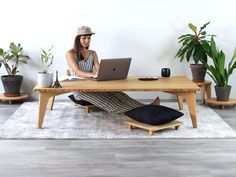
M 138 122 L 150 125 L 166 124 L 184 115 L 182 112 L 161 105 L 145 105 L 124 114 Z

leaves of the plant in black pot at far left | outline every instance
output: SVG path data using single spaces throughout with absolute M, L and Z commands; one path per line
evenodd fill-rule
M 4 65 L 9 75 L 15 75 L 20 64 L 27 64 L 27 55 L 23 55 L 21 44 L 10 43 L 9 50 L 0 48 L 0 67 Z

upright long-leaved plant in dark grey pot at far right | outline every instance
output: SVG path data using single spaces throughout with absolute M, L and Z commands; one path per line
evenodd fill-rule
M 205 65 L 207 73 L 216 84 L 216 99 L 218 101 L 228 101 L 231 90 L 231 86 L 228 85 L 229 77 L 236 68 L 236 48 L 228 66 L 226 67 L 225 54 L 222 50 L 219 50 L 216 47 L 213 37 L 211 37 L 210 44 L 207 42 L 203 42 L 202 44 L 207 55 L 212 59 L 212 65 L 208 64 L 204 60 L 202 60 L 202 63 Z

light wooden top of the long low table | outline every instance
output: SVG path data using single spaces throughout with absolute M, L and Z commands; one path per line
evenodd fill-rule
M 198 91 L 200 88 L 185 76 L 173 76 L 169 78 L 159 78 L 152 81 L 141 81 L 138 77 L 129 76 L 124 80 L 112 81 L 65 81 L 60 82 L 62 88 L 40 88 L 36 86 L 35 92 L 73 92 L 73 91 L 166 91 L 166 92 L 189 92 Z

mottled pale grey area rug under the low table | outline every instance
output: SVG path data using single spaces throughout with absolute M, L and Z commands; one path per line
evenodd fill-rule
M 162 103 L 178 109 L 176 102 Z M 38 102 L 26 102 L 0 127 L 1 139 L 127 139 L 127 138 L 235 138 L 236 132 L 207 106 L 197 105 L 198 128 L 192 128 L 187 106 L 178 120 L 179 130 L 167 129 L 149 136 L 141 129 L 130 131 L 124 115 L 95 111 L 86 113 L 71 102 L 55 102 L 47 111 L 43 129 L 37 129 Z

